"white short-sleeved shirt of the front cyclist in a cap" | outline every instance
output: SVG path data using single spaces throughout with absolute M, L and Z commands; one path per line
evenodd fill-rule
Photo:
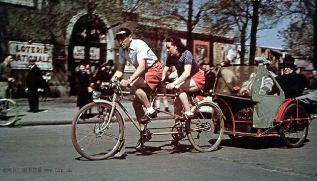
M 141 59 L 146 60 L 146 68 L 151 67 L 157 60 L 156 55 L 144 41 L 132 39 L 128 50 L 120 47 L 120 64 L 126 64 L 126 61 L 129 61 L 135 68 L 137 68 Z

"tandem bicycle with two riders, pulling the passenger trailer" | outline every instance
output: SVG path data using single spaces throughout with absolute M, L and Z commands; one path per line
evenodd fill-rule
M 118 110 L 120 107 L 136 129 L 141 133 L 139 124 L 134 120 L 129 112 L 120 102 L 121 100 L 132 101 L 124 95 L 129 92 L 122 91 L 120 82 L 117 80 L 110 84 L 102 84 L 101 87 L 113 91 L 111 102 L 103 100 L 100 92 L 94 92 L 92 103 L 85 105 L 77 113 L 72 121 L 71 138 L 77 152 L 90 160 L 101 160 L 109 158 L 117 153 L 125 141 L 126 125 L 122 113 Z M 152 94 L 153 102 L 160 96 L 177 96 Z M 171 134 L 176 140 L 188 137 L 191 145 L 200 152 L 215 150 L 222 140 L 224 134 L 224 116 L 218 105 L 211 101 L 196 102 L 193 96 L 189 99 L 191 111 L 196 115 L 192 120 L 181 120 L 180 116 L 155 109 L 178 119 L 170 132 L 155 132 L 142 136 L 147 141 L 149 134 L 167 135 Z M 91 109 L 91 114 L 85 112 Z

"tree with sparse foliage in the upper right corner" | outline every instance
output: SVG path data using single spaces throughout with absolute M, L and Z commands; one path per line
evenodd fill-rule
M 312 57 L 314 69 L 317 69 L 317 0 L 286 2 L 279 11 L 291 19 L 288 27 L 279 32 L 286 48 L 295 54 Z

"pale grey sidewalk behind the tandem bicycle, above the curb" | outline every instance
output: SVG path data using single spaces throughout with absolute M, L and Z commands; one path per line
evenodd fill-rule
M 27 112 L 29 110 L 27 99 L 16 99 L 15 101 L 19 106 L 19 116 L 15 126 L 71 124 L 78 112 L 76 99 L 77 97 L 49 98 L 46 101 L 40 101 L 40 112 L 38 113 Z M 170 102 L 171 101 L 172 100 L 170 99 Z M 121 103 L 131 116 L 136 119 L 132 102 L 121 101 Z M 163 103 L 161 103 L 161 109 L 163 109 Z M 172 104 L 169 104 L 169 110 L 173 111 Z M 124 113 L 123 116 L 127 121 L 128 117 Z M 158 116 L 162 120 L 171 119 L 169 115 L 164 113 L 159 113 Z

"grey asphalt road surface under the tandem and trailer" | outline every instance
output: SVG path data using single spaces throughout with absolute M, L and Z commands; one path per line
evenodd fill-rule
M 166 128 L 172 120 L 153 121 Z M 89 161 L 71 141 L 70 125 L 0 128 L 0 180 L 270 180 L 313 181 L 317 178 L 317 123 L 309 126 L 304 145 L 289 149 L 280 137 L 237 138 L 227 135 L 212 152 L 197 152 L 187 138 L 169 146 L 170 135 L 153 136 L 135 150 L 139 132 L 126 123 L 126 152 L 121 158 Z M 165 130 L 165 129 L 164 129 Z M 152 132 L 163 131 L 153 129 Z

